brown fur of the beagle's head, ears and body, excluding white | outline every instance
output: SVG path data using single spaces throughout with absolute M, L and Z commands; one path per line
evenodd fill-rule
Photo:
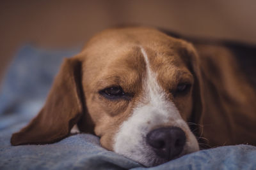
M 12 145 L 58 141 L 77 123 L 80 131 L 96 134 L 101 145 L 112 150 L 120 124 L 141 100 L 145 61 L 140 46 L 169 100 L 186 122 L 200 124 L 197 135 L 207 138 L 208 145 L 256 145 L 255 90 L 232 53 L 221 46 L 194 48 L 182 39 L 141 27 L 103 31 L 79 55 L 65 60 L 44 108 L 13 134 Z M 193 87 L 187 96 L 174 97 L 172 91 L 180 82 Z M 120 85 L 131 99 L 109 101 L 99 95 L 111 85 Z

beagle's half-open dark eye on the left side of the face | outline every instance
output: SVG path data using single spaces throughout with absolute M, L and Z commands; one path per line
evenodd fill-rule
M 118 97 L 125 97 L 125 92 L 122 87 L 108 87 L 106 89 L 100 90 L 99 94 L 109 99 L 115 99 Z

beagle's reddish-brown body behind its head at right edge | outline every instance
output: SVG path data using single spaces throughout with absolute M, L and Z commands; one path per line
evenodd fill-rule
M 223 46 L 196 48 L 204 80 L 202 135 L 209 146 L 256 145 L 256 93 L 234 54 Z

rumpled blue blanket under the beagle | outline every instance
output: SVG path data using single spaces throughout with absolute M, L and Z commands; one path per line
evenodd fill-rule
M 10 137 L 40 110 L 63 57 L 79 52 L 26 45 L 17 53 L 0 91 L 0 169 L 146 169 L 100 146 L 92 134 L 51 145 L 11 146 Z M 256 169 L 256 147 L 222 146 L 184 155 L 148 169 Z

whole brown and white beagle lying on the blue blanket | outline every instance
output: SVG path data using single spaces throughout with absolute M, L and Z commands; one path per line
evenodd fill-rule
M 256 145 L 255 94 L 228 48 L 108 29 L 64 60 L 44 107 L 11 143 L 54 143 L 77 125 L 104 148 L 156 166 L 199 145 Z

